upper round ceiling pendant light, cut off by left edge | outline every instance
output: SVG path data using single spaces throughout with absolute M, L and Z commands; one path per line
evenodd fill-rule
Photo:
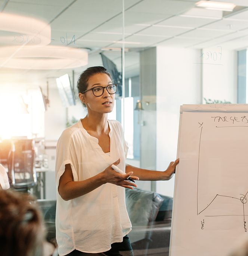
M 0 31 L 7 32 L 6 35 L 1 33 L 3 36 L 0 37 L 0 45 L 37 46 L 49 45 L 51 42 L 50 25 L 28 16 L 1 12 Z

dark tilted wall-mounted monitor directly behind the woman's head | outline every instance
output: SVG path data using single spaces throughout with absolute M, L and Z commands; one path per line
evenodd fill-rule
M 122 97 L 122 74 L 117 70 L 116 64 L 113 63 L 106 55 L 101 54 L 102 65 L 108 70 L 113 78 L 113 83 L 117 83 L 116 96 Z

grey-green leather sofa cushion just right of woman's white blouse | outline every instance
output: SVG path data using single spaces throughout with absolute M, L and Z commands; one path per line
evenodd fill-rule
M 148 225 L 156 219 L 162 197 L 152 191 L 126 189 L 126 208 L 132 226 Z

